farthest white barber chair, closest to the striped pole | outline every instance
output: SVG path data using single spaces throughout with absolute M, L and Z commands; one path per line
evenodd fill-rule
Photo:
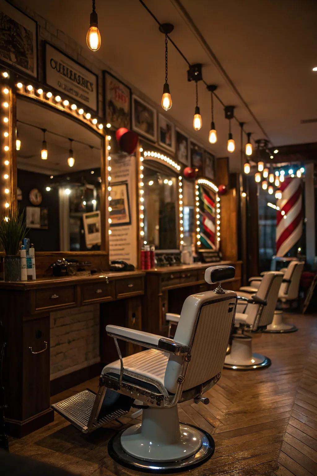
M 303 272 L 304 264 L 304 261 L 290 261 L 288 267 L 281 270 L 284 273 L 284 278 L 279 288 L 278 301 L 285 303 L 287 301 L 295 301 L 298 299 L 299 281 Z M 240 288 L 240 291 L 254 293 L 255 290 L 259 288 L 260 282 L 265 274 L 267 274 L 267 271 L 261 273 L 261 276 L 250 278 L 250 286 L 242 287 Z M 264 332 L 285 333 L 295 332 L 297 330 L 298 328 L 296 326 L 283 322 L 282 309 L 275 309 L 272 323 L 269 324 Z

